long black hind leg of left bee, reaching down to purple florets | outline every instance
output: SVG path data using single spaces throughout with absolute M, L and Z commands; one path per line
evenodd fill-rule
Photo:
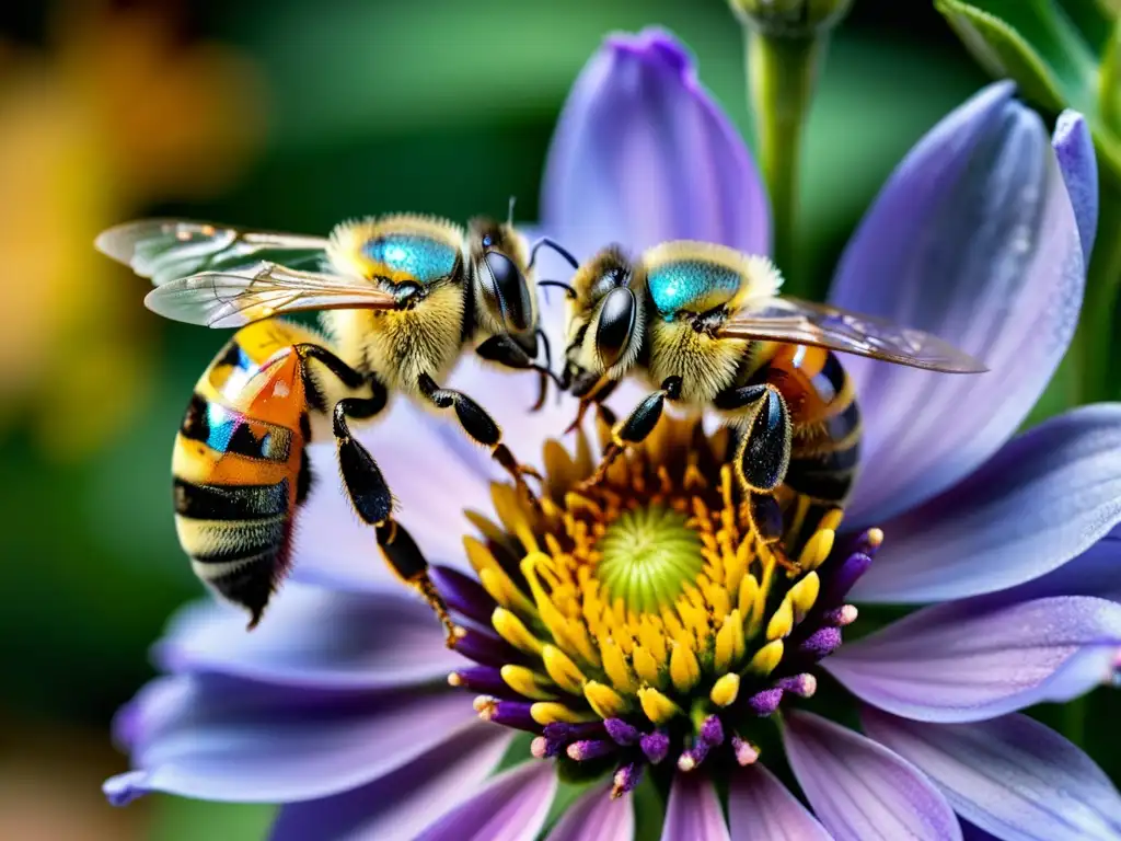
M 447 607 L 428 577 L 428 565 L 416 542 L 393 518 L 393 496 L 386 478 L 370 452 L 351 435 L 348 418 L 373 417 L 386 406 L 386 389 L 374 387 L 372 397 L 348 397 L 335 404 L 333 432 L 339 454 L 339 469 L 346 497 L 359 518 L 373 526 L 378 546 L 393 573 L 420 593 L 447 630 L 447 644 L 453 641 L 453 625 Z

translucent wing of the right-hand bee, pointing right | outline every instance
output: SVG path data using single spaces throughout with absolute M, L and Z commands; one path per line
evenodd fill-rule
M 731 313 L 716 335 L 812 344 L 929 371 L 980 373 L 989 370 L 930 333 L 798 298 L 766 298 L 750 303 Z

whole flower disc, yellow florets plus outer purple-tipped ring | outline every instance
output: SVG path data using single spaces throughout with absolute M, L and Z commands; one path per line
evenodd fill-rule
M 798 572 L 777 565 L 750 528 L 729 437 L 664 419 L 591 486 L 587 441 L 575 456 L 549 442 L 539 500 L 494 484 L 499 523 L 471 515 L 481 586 L 437 570 L 450 607 L 483 626 L 457 628 L 480 665 L 450 682 L 483 693 L 482 718 L 537 733 L 538 757 L 615 763 L 617 794 L 647 763 L 687 771 L 717 749 L 753 763 L 760 719 L 814 693 L 807 669 L 855 618 L 842 600 L 879 544 L 870 533 L 823 577 L 834 511 L 787 546 Z

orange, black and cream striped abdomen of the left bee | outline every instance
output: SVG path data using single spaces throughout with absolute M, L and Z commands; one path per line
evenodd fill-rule
M 287 331 L 269 326 L 239 332 L 200 379 L 172 465 L 179 543 L 250 627 L 287 572 L 311 480 L 302 364 Z

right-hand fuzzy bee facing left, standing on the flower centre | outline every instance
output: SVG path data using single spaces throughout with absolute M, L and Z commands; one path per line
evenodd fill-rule
M 665 242 L 637 259 L 605 248 L 568 288 L 562 382 L 581 398 L 576 423 L 624 377 L 655 389 L 613 423 L 590 483 L 652 432 L 667 401 L 719 413 L 735 433 L 753 530 L 794 571 L 799 535 L 843 506 L 860 462 L 860 408 L 835 351 L 932 371 L 986 369 L 928 333 L 778 297 L 780 285 L 769 259 L 723 246 Z

